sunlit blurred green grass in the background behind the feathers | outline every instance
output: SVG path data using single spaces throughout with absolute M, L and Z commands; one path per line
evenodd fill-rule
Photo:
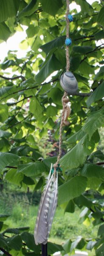
M 9 202 L 9 203 L 8 203 Z M 34 233 L 34 225 L 37 218 L 38 206 L 31 205 L 27 196 L 22 198 L 13 198 L 11 195 L 4 199 L 0 198 L 0 214 L 10 214 L 5 224 L 7 227 L 30 227 L 30 232 Z M 73 241 L 77 236 L 90 239 L 97 236 L 97 228 L 79 224 L 79 214 L 81 210 L 76 208 L 74 214 L 65 213 L 61 208 L 57 207 L 56 214 L 53 220 L 52 229 L 49 240 L 57 244 L 63 244 L 65 240 L 72 239 Z M 84 249 L 85 250 L 85 249 Z M 89 256 L 94 256 L 95 253 L 89 252 Z

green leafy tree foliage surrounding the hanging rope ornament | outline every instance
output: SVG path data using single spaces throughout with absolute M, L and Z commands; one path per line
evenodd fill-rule
M 69 233 L 67 246 L 49 243 L 48 250 L 52 254 L 67 248 L 67 253 L 73 253 L 75 248 L 94 247 L 96 256 L 103 256 L 104 155 L 97 151 L 97 143 L 98 128 L 104 125 L 104 3 L 76 3 L 81 11 L 72 10 L 70 71 L 76 76 L 79 91 L 70 96 L 70 125 L 63 128 L 66 154 L 60 160 L 63 174 L 59 173 L 59 204 L 68 212 L 74 211 L 75 204 L 79 208 L 84 206 L 81 223 L 91 218 L 93 225 L 98 225 L 98 237 L 91 237 L 90 241 L 78 237 L 72 241 Z M 31 48 L 21 59 L 17 52 L 9 51 L 0 64 L 0 178 L 24 189 L 42 189 L 51 161 L 56 160 L 42 160 L 37 140 L 47 134 L 49 139 L 53 138 L 52 143 L 59 139 L 63 95 L 59 78 L 66 66 L 65 9 L 64 0 L 54 0 L 54 4 L 48 0 L 0 0 L 0 41 L 22 31 L 25 25 L 27 38 L 20 47 Z M 50 81 L 45 81 L 49 75 Z M 40 246 L 35 246 L 27 229 L 9 230 L 5 237 L 6 217 L 0 217 L 0 250 L 4 255 L 39 255 Z

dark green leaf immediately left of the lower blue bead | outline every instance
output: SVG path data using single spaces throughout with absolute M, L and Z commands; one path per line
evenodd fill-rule
M 53 39 L 52 41 L 48 42 L 47 44 L 43 44 L 40 48 L 48 54 L 52 49 L 62 47 L 65 44 L 65 35 L 60 36 L 58 38 Z

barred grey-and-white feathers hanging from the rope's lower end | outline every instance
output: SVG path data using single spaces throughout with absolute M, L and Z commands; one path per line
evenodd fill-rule
M 52 169 L 52 164 L 51 164 Z M 51 230 L 53 217 L 57 206 L 58 194 L 58 175 L 56 172 L 56 179 L 54 180 L 51 169 L 48 176 L 48 181 L 43 190 L 39 210 L 34 230 L 35 244 L 46 244 Z

